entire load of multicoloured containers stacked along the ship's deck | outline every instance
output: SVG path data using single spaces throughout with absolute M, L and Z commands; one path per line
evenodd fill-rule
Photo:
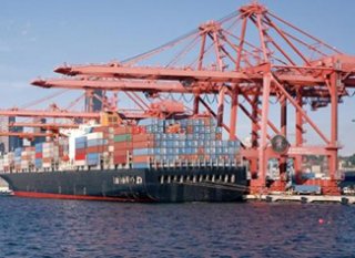
M 74 143 L 75 151 L 71 161 L 69 143 Z M 211 117 L 146 118 L 140 125 L 93 126 L 72 142 L 39 143 L 17 148 L 12 155 L 16 172 L 235 166 L 241 161 L 239 141 L 222 140 L 222 128 Z M 10 157 L 3 156 L 3 171 L 10 171 Z

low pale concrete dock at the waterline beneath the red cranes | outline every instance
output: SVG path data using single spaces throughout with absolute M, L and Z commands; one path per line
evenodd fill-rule
M 246 195 L 247 202 L 297 202 L 303 204 L 311 203 L 338 203 L 344 205 L 355 204 L 355 196 L 328 196 L 328 195 L 287 195 L 287 194 L 270 194 L 270 195 Z

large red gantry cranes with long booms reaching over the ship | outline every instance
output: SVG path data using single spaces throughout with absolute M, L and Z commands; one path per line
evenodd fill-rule
M 141 92 L 150 99 L 191 95 L 193 114 L 205 110 L 214 115 L 230 138 L 241 138 L 239 118 L 244 114 L 250 121 L 251 143 L 243 145 L 242 155 L 250 163 L 251 193 L 284 190 L 290 159 L 302 183 L 303 156 L 322 155 L 327 157 L 328 178 L 317 184 L 324 194 L 338 194 L 338 104 L 355 86 L 355 58 L 260 3 L 241 7 L 219 21 L 203 23 L 174 41 L 122 62 L 63 65 L 54 71 L 68 78 L 36 80 L 32 84 L 101 89 L 136 93 L 135 96 Z M 217 100 L 215 105 L 207 101 L 211 95 Z M 311 114 L 321 107 L 327 115 L 328 130 Z M 306 143 L 305 127 L 317 135 L 321 144 Z M 290 146 L 273 147 L 271 140 L 275 135 L 286 138 Z M 280 164 L 281 177 L 274 182 L 266 178 L 270 158 L 277 158 Z

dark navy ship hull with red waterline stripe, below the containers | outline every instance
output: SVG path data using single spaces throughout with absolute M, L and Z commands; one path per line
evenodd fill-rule
M 16 196 L 113 202 L 237 202 L 247 186 L 243 167 L 54 171 L 0 176 Z

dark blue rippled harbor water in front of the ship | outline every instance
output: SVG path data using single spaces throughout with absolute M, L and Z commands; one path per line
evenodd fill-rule
M 0 198 L 0 257 L 354 257 L 355 207 Z

